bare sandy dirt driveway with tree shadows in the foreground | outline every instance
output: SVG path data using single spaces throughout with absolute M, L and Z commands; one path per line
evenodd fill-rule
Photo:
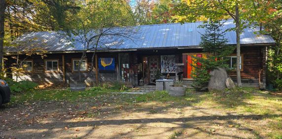
M 160 103 L 34 103 L 0 108 L 0 137 L 16 139 L 249 139 L 257 115 Z M 249 124 L 253 123 L 250 129 Z

